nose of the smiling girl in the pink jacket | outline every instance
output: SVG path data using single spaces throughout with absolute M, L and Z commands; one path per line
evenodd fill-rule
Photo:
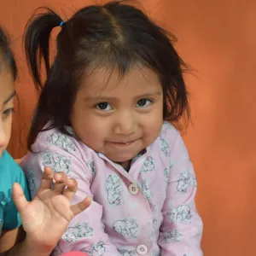
M 136 131 L 137 119 L 132 111 L 120 112 L 116 117 L 114 132 L 117 135 L 130 136 Z

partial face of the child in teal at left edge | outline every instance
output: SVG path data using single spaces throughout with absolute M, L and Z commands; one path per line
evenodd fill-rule
M 9 143 L 14 110 L 15 81 L 5 67 L 0 70 L 0 157 Z

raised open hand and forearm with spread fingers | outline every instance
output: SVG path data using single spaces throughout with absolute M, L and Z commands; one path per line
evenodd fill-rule
M 51 189 L 53 177 L 55 185 Z M 26 238 L 6 255 L 49 256 L 71 219 L 90 205 L 88 198 L 70 206 L 76 190 L 75 180 L 67 178 L 64 173 L 54 176 L 50 168 L 45 168 L 38 194 L 31 202 L 26 201 L 20 184 L 15 183 L 13 200 L 20 212 Z

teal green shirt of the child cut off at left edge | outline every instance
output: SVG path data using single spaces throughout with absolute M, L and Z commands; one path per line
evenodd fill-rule
M 20 183 L 26 200 L 30 200 L 25 173 L 7 151 L 0 157 L 0 235 L 2 230 L 14 230 L 21 224 L 20 213 L 12 199 L 13 183 Z

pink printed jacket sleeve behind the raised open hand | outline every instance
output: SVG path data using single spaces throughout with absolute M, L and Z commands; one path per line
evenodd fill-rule
M 90 192 L 92 174 L 79 148 L 72 147 L 72 150 L 68 150 L 65 147 L 64 150 L 56 145 L 37 142 L 34 149 L 39 153 L 28 153 L 20 164 L 26 170 L 32 198 L 37 194 L 44 166 L 52 167 L 54 172 L 65 172 L 67 177 L 77 180 L 78 191 L 73 197 L 72 204 L 82 201 L 87 195 L 93 198 Z M 73 218 L 51 255 L 61 255 L 69 251 L 81 251 L 90 255 L 120 255 L 104 232 L 102 212 L 102 205 L 92 201 L 90 207 Z

